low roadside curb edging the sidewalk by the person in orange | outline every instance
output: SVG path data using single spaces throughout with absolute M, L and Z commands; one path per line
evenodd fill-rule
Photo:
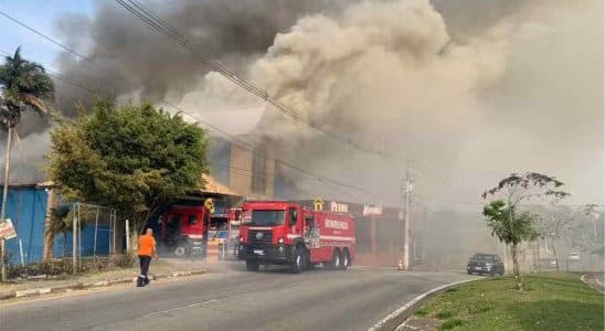
M 151 275 L 150 278 L 153 280 L 157 280 L 157 279 L 166 279 L 166 278 L 178 278 L 178 277 L 204 275 L 206 273 L 208 273 L 208 269 L 194 270 L 194 271 L 177 271 L 171 274 Z M 15 290 L 15 291 L 9 291 L 9 292 L 0 292 L 0 301 L 15 299 L 15 298 L 40 297 L 47 293 L 72 292 L 72 291 L 84 290 L 88 288 L 110 287 L 110 286 L 121 285 L 121 284 L 132 284 L 136 281 L 137 281 L 137 277 L 132 277 L 132 278 L 124 278 L 124 279 L 117 279 L 117 280 L 100 280 L 95 282 L 75 282 L 75 284 L 60 285 L 54 287 L 41 287 L 41 288 L 31 288 L 31 289 Z

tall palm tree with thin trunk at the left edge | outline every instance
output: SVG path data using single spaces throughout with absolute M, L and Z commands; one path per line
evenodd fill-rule
M 53 82 L 42 65 L 21 57 L 21 47 L 12 56 L 4 57 L 0 65 L 0 121 L 7 127 L 7 151 L 4 157 L 4 186 L 2 191 L 2 207 L 0 222 L 4 222 L 7 212 L 7 194 L 9 188 L 9 169 L 11 142 L 14 127 L 25 110 L 33 110 L 40 115 L 49 113 L 43 99 L 54 96 Z M 2 244 L 2 280 L 6 280 L 4 239 Z

